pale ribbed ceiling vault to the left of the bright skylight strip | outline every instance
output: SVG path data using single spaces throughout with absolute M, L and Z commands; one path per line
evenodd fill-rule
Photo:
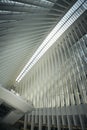
M 11 87 L 76 0 L 0 1 L 0 84 Z

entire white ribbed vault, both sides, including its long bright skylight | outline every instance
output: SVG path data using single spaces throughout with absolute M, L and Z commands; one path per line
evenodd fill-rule
M 86 82 L 86 42 L 86 0 L 1 0 L 0 84 L 35 107 L 68 106 L 69 93 L 75 105 L 73 73 Z

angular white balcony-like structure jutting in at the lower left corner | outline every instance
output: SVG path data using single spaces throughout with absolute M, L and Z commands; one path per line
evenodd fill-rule
M 10 111 L 2 119 L 4 123 L 9 124 L 16 123 L 25 113 L 31 112 L 34 109 L 31 102 L 27 102 L 22 97 L 17 96 L 0 85 L 0 105 L 2 104 L 6 104 L 7 108 L 10 108 Z

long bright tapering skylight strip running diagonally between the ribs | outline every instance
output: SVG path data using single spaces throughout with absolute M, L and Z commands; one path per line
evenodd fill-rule
M 60 22 L 54 27 L 51 33 L 46 37 L 37 51 L 25 65 L 16 81 L 20 82 L 33 65 L 43 56 L 43 54 L 57 41 L 57 39 L 78 19 L 78 17 L 86 10 L 84 8 L 85 0 L 78 0 L 70 10 L 64 15 Z

